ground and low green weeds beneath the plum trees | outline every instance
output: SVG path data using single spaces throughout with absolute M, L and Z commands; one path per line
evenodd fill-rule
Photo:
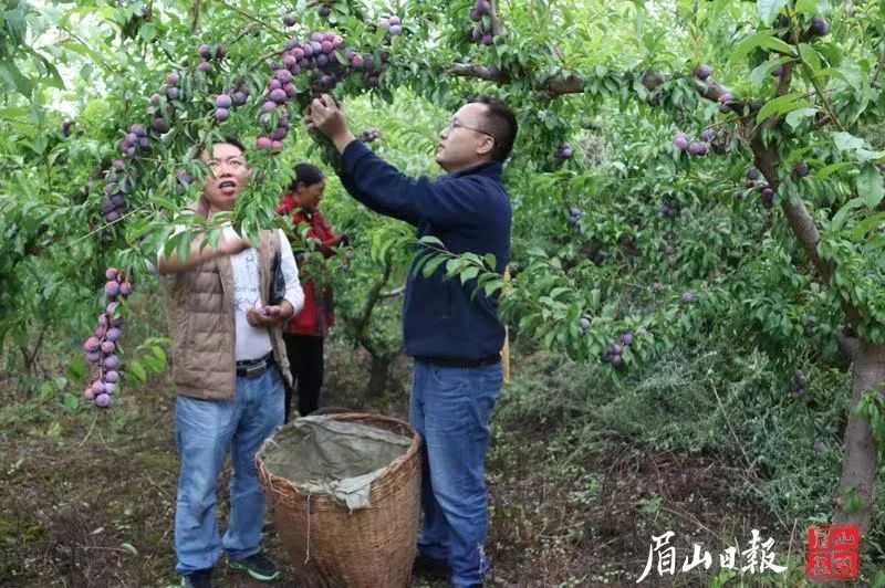
M 160 330 L 149 304 L 139 312 L 134 324 Z M 53 374 L 64 372 L 67 355 L 59 340 L 48 356 L 62 359 L 44 363 Z M 395 361 L 388 392 L 366 398 L 366 361 L 342 342 L 329 347 L 323 405 L 406 418 L 406 358 Z M 790 393 L 785 363 L 729 342 L 673 351 L 620 386 L 594 366 L 517 342 L 488 460 L 492 585 L 632 585 L 655 536 L 674 532 L 680 558 L 699 544 L 718 559 L 728 545 L 746 548 L 752 529 L 774 538 L 789 575 L 730 577 L 716 560 L 644 584 L 802 585 L 805 528 L 832 513 L 848 386 L 836 369 L 806 371 L 808 406 Z M 0 419 L 11 419 L 0 432 L 0 585 L 174 582 L 178 459 L 168 375 L 126 388 L 107 412 L 65 407 L 63 391 L 42 398 L 41 386 L 23 376 L 0 381 Z M 811 450 L 819 439 L 830 451 Z M 866 545 L 864 569 L 874 570 L 882 532 Z M 288 561 L 272 528 L 267 548 Z M 258 586 L 226 568 L 217 579 Z M 294 582 L 284 566 L 280 584 Z

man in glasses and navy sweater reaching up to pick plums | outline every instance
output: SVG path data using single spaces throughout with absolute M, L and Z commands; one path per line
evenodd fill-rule
M 329 95 L 313 101 L 304 122 L 335 144 L 341 180 L 360 202 L 455 253 L 492 253 L 503 274 L 512 209 L 501 167 L 517 135 L 509 106 L 493 98 L 462 106 L 439 135 L 436 160 L 446 175 L 436 179 L 408 177 L 375 156 Z M 409 420 L 424 438 L 428 466 L 418 563 L 447 567 L 456 587 L 481 586 L 488 570 L 485 461 L 501 390 L 504 328 L 496 298 L 482 292 L 471 301 L 476 283 L 444 282 L 444 273 L 409 273 L 403 309 L 406 353 L 415 358 Z

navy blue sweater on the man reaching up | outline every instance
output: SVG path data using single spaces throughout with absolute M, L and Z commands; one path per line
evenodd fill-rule
M 342 154 L 341 179 L 360 202 L 413 224 L 418 237 L 434 235 L 454 253 L 494 254 L 496 271 L 503 273 L 512 208 L 501 183 L 501 164 L 437 179 L 412 178 L 355 140 Z M 480 292 L 471 301 L 475 281 L 444 282 L 444 274 L 445 264 L 427 279 L 409 272 L 403 308 L 406 353 L 467 360 L 497 356 L 504 339 L 497 296 Z

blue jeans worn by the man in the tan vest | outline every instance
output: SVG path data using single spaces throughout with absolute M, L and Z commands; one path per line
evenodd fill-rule
M 264 493 L 258 482 L 256 453 L 283 422 L 283 378 L 277 365 L 256 379 L 237 378 L 230 400 L 179 396 L 175 442 L 181 458 L 175 511 L 176 571 L 215 567 L 223 545 L 232 560 L 261 550 Z M 218 476 L 230 450 L 230 521 L 223 543 L 215 510 Z

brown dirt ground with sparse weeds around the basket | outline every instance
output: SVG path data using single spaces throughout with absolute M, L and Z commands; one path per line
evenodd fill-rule
M 405 359 L 394 368 L 398 384 L 382 399 L 360 397 L 353 365 L 333 357 L 330 367 L 324 405 L 406 417 Z M 13 384 L 0 386 L 0 401 L 13 399 Z M 126 391 L 110 411 L 38 413 L 0 432 L 0 586 L 177 584 L 174 402 L 160 379 Z M 627 440 L 574 447 L 562 431 L 537 422 L 496 419 L 488 482 L 491 586 L 635 586 L 652 536 L 666 531 L 676 534 L 683 558 L 698 543 L 718 559 L 726 542 L 746 542 L 752 528 L 774 537 L 780 553 L 791 540 L 772 528 L 738 468 L 652 453 Z M 227 512 L 222 487 L 222 529 Z M 270 525 L 266 549 L 287 565 Z M 718 560 L 709 571 L 658 577 L 653 570 L 643 585 L 709 586 L 718 571 Z M 215 578 L 222 587 L 260 586 L 225 565 Z M 289 567 L 275 584 L 299 586 Z M 419 579 L 416 586 L 446 584 Z

